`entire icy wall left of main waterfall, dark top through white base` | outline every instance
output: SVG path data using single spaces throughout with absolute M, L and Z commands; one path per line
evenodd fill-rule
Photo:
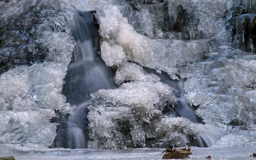
M 0 143 L 48 148 L 56 135 L 54 109 L 72 109 L 61 90 L 75 46 L 68 26 L 73 13 L 58 0 L 0 6 Z

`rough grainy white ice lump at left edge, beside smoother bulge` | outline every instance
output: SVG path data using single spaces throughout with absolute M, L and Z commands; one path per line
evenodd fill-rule
M 29 93 L 29 67 L 20 66 L 0 76 L 0 111 L 35 110 L 38 105 Z

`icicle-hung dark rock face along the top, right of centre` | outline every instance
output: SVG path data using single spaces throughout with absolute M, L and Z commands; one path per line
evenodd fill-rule
M 131 9 L 130 9 L 131 8 Z M 120 3 L 119 9 L 134 30 L 150 38 L 157 31 L 189 32 L 192 39 L 217 33 L 216 19 L 225 16 L 223 0 L 164 0 L 163 3 L 132 1 Z

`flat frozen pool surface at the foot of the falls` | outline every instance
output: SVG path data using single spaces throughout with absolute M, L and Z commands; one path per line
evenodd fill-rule
M 45 149 L 30 151 L 12 151 L 1 153 L 0 156 L 14 156 L 16 160 L 160 160 L 164 149 Z M 212 160 L 253 160 L 250 154 L 256 147 L 209 147 L 191 148 L 192 160 L 203 160 L 211 156 Z

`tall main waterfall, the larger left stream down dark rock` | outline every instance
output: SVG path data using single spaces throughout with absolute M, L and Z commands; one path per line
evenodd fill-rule
M 94 11 L 76 11 L 71 25 L 76 52 L 68 66 L 62 93 L 67 102 L 76 105 L 68 116 L 59 119 L 57 135 L 52 147 L 87 148 L 87 101 L 99 89 L 115 88 L 113 75 L 97 53 L 99 33 Z M 62 135 L 62 136 L 60 136 Z

